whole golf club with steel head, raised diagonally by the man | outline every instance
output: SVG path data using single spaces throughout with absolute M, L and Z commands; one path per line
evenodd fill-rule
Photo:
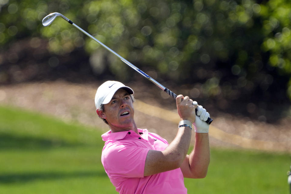
M 111 53 L 113 53 L 115 56 L 117 56 L 119 59 L 121 59 L 124 63 L 126 63 L 127 65 L 129 65 L 132 69 L 134 69 L 135 71 L 139 72 L 141 75 L 143 75 L 144 77 L 146 77 L 147 79 L 149 79 L 151 82 L 153 82 L 154 84 L 156 84 L 160 89 L 164 90 L 167 94 L 169 94 L 170 96 L 172 96 L 173 99 L 176 99 L 177 95 L 172 92 L 171 90 L 167 89 L 165 86 L 161 85 L 159 82 L 157 82 L 156 80 L 152 79 L 149 75 L 147 75 L 145 72 L 143 72 L 142 70 L 140 70 L 139 68 L 135 67 L 134 65 L 132 65 L 129 61 L 127 61 L 126 59 L 124 59 L 122 56 L 120 56 L 119 54 L 117 54 L 116 52 L 114 52 L 113 50 L 111 50 L 109 47 L 107 47 L 106 45 L 104 45 L 102 42 L 100 42 L 99 40 L 97 40 L 96 38 L 94 38 L 92 35 L 90 35 L 88 32 L 86 32 L 85 30 L 83 30 L 82 28 L 80 28 L 79 26 L 75 25 L 71 20 L 69 20 L 68 18 L 66 18 L 64 15 L 58 13 L 58 12 L 54 12 L 51 13 L 47 16 L 45 16 L 42 19 L 42 25 L 44 26 L 48 26 L 50 25 L 56 17 L 61 16 L 65 21 L 69 22 L 70 24 L 72 24 L 73 26 L 75 26 L 76 28 L 78 28 L 81 32 L 83 32 L 85 35 L 89 36 L 90 38 L 92 38 L 93 40 L 95 40 L 96 42 L 98 42 L 100 45 L 102 45 L 105 49 L 107 49 L 108 51 L 110 51 Z M 194 101 L 192 103 L 193 105 L 197 105 L 197 102 Z M 210 125 L 210 123 L 213 120 L 208 117 L 208 119 L 206 120 L 206 123 Z

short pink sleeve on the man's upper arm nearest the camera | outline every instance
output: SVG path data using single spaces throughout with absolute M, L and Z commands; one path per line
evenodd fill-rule
M 102 163 L 111 177 L 142 178 L 149 148 L 115 142 L 102 152 Z

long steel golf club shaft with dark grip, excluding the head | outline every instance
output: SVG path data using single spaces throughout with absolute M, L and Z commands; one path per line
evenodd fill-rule
M 116 52 L 114 52 L 112 49 L 110 49 L 108 46 L 106 46 L 105 44 L 103 44 L 102 42 L 100 42 L 98 39 L 96 39 L 95 37 L 93 37 L 92 35 L 90 35 L 88 32 L 86 32 L 85 30 L 83 30 L 82 28 L 80 28 L 78 25 L 76 25 L 75 23 L 73 23 L 71 20 L 67 21 L 70 24 L 72 24 L 73 26 L 75 26 L 76 28 L 78 28 L 81 32 L 83 32 L 85 35 L 89 36 L 90 38 L 92 38 L 93 40 L 95 40 L 96 42 L 98 42 L 100 45 L 102 45 L 105 49 L 107 49 L 109 52 L 113 53 L 115 56 L 117 56 L 119 59 L 121 59 L 125 64 L 129 65 L 132 69 L 134 69 L 135 71 L 139 72 L 142 76 L 146 77 L 147 79 L 149 79 L 151 82 L 153 82 L 155 85 L 157 85 L 160 89 L 162 89 L 164 92 L 166 92 L 167 94 L 169 94 L 170 96 L 172 96 L 173 99 L 177 98 L 177 95 L 172 92 L 171 90 L 167 89 L 165 86 L 163 86 L 162 84 L 160 84 L 159 82 L 157 82 L 156 80 L 152 79 L 149 75 L 147 75 L 145 72 L 143 72 L 142 70 L 140 70 L 139 68 L 137 68 L 135 65 L 133 65 L 132 63 L 130 63 L 129 61 L 127 61 L 126 59 L 124 59 L 122 56 L 120 56 L 119 54 L 117 54 Z M 207 124 L 210 125 L 210 123 L 213 120 L 209 117 L 206 121 Z

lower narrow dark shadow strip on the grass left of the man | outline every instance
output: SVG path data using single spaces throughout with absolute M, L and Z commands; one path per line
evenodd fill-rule
M 0 174 L 0 184 L 23 183 L 35 180 L 69 179 L 80 177 L 107 177 L 105 171 L 38 172 Z

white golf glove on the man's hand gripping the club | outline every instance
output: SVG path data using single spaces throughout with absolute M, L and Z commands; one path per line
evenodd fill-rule
M 196 119 L 193 123 L 195 132 L 208 133 L 209 125 L 205 121 L 207 121 L 208 117 L 210 117 L 209 113 L 206 111 L 206 109 L 203 109 L 201 105 L 197 106 L 196 110 Z

